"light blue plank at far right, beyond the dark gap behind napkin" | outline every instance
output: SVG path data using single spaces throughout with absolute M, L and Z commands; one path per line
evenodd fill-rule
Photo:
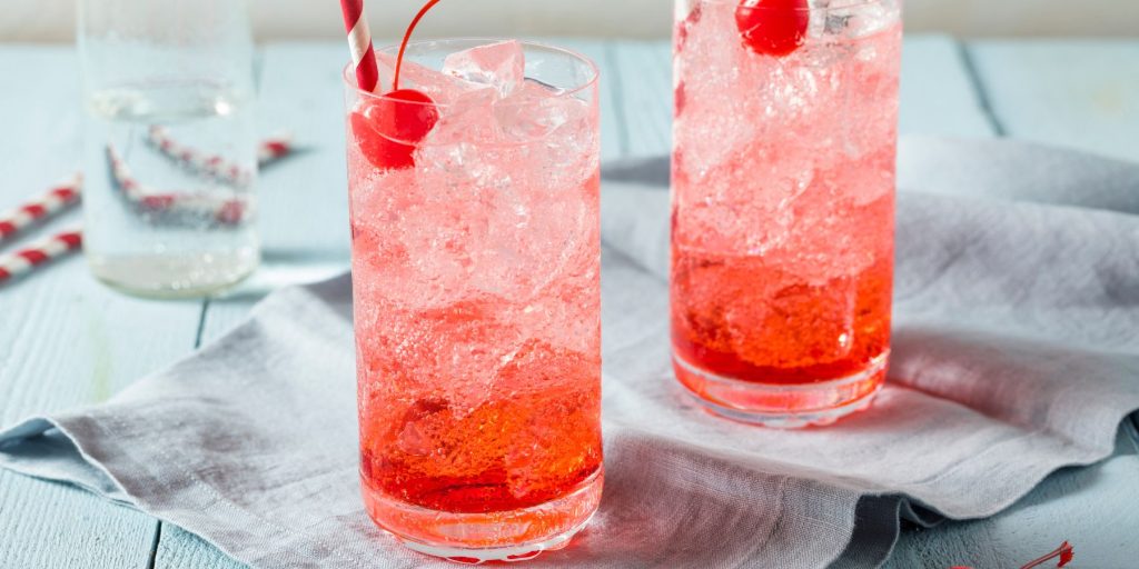
M 1139 160 L 1139 41 L 969 46 L 1009 137 Z

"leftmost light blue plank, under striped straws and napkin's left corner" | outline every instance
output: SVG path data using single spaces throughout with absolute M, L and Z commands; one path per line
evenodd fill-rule
M 77 168 L 75 67 L 71 48 L 0 50 L 3 207 Z M 75 221 L 73 213 L 32 234 Z M 113 292 L 79 256 L 0 287 L 0 423 L 108 398 L 189 349 L 200 312 L 199 303 Z M 156 529 L 153 518 L 81 490 L 0 472 L 5 567 L 142 568 Z

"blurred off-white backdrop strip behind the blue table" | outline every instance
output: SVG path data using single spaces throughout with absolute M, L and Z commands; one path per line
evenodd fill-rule
M 259 39 L 342 34 L 336 0 L 248 2 Z M 374 35 L 398 35 L 421 3 L 369 0 Z M 1139 0 L 906 0 L 906 10 L 910 32 L 1139 38 Z M 74 0 L 0 0 L 0 41 L 69 41 L 74 11 Z M 671 15 L 672 0 L 444 0 L 421 35 L 663 38 Z

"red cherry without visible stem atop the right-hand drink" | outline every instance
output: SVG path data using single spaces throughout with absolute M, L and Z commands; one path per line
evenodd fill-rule
M 752 51 L 786 56 L 803 44 L 810 10 L 806 0 L 740 0 L 736 27 Z

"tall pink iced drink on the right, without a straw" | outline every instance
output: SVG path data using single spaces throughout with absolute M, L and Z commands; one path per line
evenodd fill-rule
M 678 0 L 672 338 L 711 410 L 863 409 L 890 353 L 901 0 Z

